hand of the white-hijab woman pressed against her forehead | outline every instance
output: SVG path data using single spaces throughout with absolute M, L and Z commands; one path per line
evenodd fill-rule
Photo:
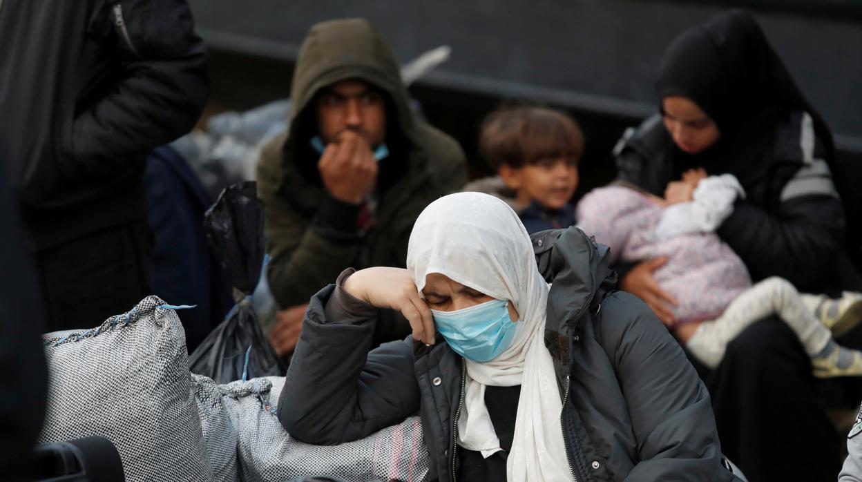
M 434 344 L 434 318 L 406 269 L 367 268 L 351 274 L 342 287 L 365 303 L 401 311 L 410 322 L 413 339 Z

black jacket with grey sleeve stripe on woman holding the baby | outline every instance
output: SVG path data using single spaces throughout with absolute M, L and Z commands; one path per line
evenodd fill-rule
M 844 251 L 841 199 L 806 116 L 792 111 L 775 128 L 762 160 L 768 175 L 737 201 L 716 232 L 755 281 L 780 276 L 800 291 L 859 290 L 862 279 Z M 630 129 L 615 149 L 618 177 L 664 196 L 667 184 L 682 174 L 668 155 L 671 143 L 659 116 Z

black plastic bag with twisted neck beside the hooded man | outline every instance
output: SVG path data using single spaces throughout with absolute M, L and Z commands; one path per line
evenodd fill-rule
M 207 241 L 234 283 L 237 304 L 189 358 L 191 372 L 215 383 L 283 376 L 286 368 L 260 329 L 251 292 L 264 257 L 264 206 L 253 182 L 231 185 L 203 219 Z

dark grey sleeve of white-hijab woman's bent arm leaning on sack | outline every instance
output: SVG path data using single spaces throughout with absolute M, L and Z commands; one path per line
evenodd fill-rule
M 358 440 L 419 410 L 411 339 L 369 353 L 378 310 L 365 305 L 327 319 L 338 316 L 326 309 L 336 289 L 329 285 L 311 298 L 278 400 L 284 429 L 316 445 Z

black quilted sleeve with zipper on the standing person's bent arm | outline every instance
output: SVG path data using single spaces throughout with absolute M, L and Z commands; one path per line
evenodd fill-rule
M 71 178 L 141 157 L 184 135 L 209 90 L 203 41 L 184 0 L 105 2 L 92 22 L 116 52 L 116 80 L 73 122 L 73 162 L 67 166 L 78 171 L 69 172 Z

